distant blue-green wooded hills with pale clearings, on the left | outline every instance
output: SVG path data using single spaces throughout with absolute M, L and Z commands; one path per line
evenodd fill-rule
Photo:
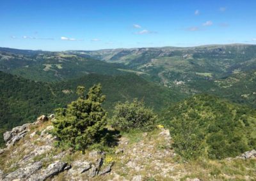
M 36 81 L 56 82 L 89 73 L 123 75 L 121 64 L 89 59 L 65 52 L 43 52 L 0 48 L 0 71 Z

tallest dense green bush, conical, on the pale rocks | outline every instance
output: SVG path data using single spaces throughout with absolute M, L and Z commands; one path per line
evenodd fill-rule
M 60 140 L 58 143 L 77 150 L 104 140 L 102 132 L 106 126 L 106 112 L 101 107 L 105 100 L 101 85 L 94 85 L 86 96 L 84 91 L 84 87 L 77 87 L 79 98 L 67 108 L 58 108 L 53 122 L 53 133 Z

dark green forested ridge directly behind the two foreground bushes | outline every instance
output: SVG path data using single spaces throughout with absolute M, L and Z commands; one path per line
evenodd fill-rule
M 165 105 L 184 98 L 179 92 L 147 82 L 131 73 L 122 76 L 89 74 L 67 82 L 44 83 L 0 71 L 1 133 L 31 122 L 39 115 L 52 113 L 55 108 L 63 107 L 77 98 L 78 85 L 83 85 L 88 90 L 95 83 L 102 84 L 103 94 L 106 95 L 104 108 L 110 113 L 117 101 L 139 98 L 147 106 L 159 111 Z

